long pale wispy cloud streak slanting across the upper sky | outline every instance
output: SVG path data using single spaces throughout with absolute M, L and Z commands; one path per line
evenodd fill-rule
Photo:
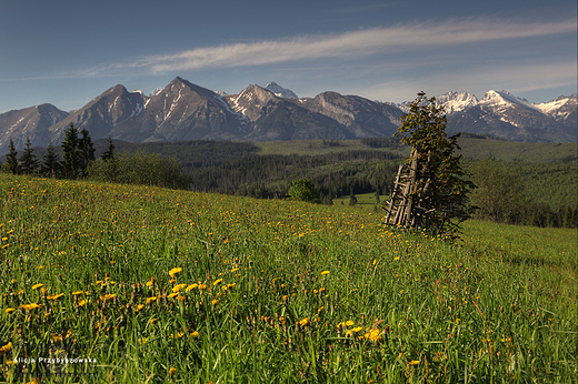
M 560 22 L 461 19 L 432 23 L 412 23 L 375 28 L 340 34 L 295 37 L 286 40 L 262 40 L 250 43 L 196 48 L 175 54 L 151 55 L 129 63 L 92 69 L 140 69 L 165 73 L 207 68 L 235 68 L 276 64 L 326 58 L 359 58 L 417 47 L 456 46 L 505 39 L 536 38 L 577 31 L 576 19 Z

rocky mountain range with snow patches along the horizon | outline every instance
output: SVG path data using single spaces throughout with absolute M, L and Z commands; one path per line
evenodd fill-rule
M 506 91 L 489 91 L 479 100 L 468 92 L 437 98 L 445 107 L 447 131 L 492 135 L 511 141 L 577 141 L 577 94 L 531 104 Z M 182 140 L 347 140 L 391 137 L 409 103 L 371 101 L 358 95 L 322 92 L 298 98 L 271 82 L 226 94 L 181 78 L 150 95 L 114 85 L 72 112 L 41 104 L 0 114 L 0 154 L 10 139 L 21 150 L 54 145 L 73 123 L 93 140 L 129 142 Z

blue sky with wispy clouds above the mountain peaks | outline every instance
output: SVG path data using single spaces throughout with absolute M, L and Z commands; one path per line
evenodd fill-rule
M 114 84 L 175 77 L 238 93 L 276 81 L 401 102 L 507 90 L 531 102 L 577 91 L 572 0 L 3 1 L 0 113 L 83 107 Z

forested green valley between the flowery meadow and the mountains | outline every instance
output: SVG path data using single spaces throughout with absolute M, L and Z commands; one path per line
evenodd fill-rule
M 552 155 L 560 153 L 559 149 L 552 152 L 551 145 L 526 144 L 530 146 L 524 146 L 520 152 L 534 151 L 532 158 L 512 160 L 508 154 L 518 150 L 520 143 L 477 137 L 464 140 L 468 148 L 462 153 L 464 164 L 479 186 L 471 196 L 471 203 L 479 206 L 477 219 L 537 226 L 577 226 L 576 155 L 559 159 Z M 477 151 L 471 140 L 477 140 L 476 145 L 484 150 Z M 333 199 L 343 195 L 373 193 L 378 196 L 376 202 L 379 201 L 376 210 L 387 203 L 398 166 L 408 152 L 396 139 L 377 138 L 298 143 L 97 140 L 93 145 L 96 160 L 83 176 L 96 181 L 285 199 L 292 181 L 308 179 L 316 185 L 323 204 L 331 204 Z M 572 153 L 571 145 L 576 143 L 570 143 L 570 148 L 562 145 Z M 52 151 L 52 156 L 62 159 L 60 146 Z M 489 151 L 489 155 L 485 151 Z M 38 170 L 27 173 L 42 175 L 40 170 L 47 149 L 29 149 L 30 155 L 36 155 Z M 3 169 L 9 171 L 6 163 Z M 23 173 L 23 169 L 28 170 L 19 168 L 18 172 Z M 58 169 L 43 175 L 64 176 Z M 379 199 L 379 195 L 383 198 Z

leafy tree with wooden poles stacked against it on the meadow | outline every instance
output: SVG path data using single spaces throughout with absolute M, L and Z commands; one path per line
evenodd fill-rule
M 410 104 L 395 137 L 410 145 L 400 203 L 390 205 L 388 224 L 406 229 L 432 230 L 437 234 L 456 234 L 459 223 L 470 216 L 468 195 L 475 184 L 461 169 L 458 137 L 446 133 L 446 113 L 436 99 L 423 92 Z M 401 173 L 400 169 L 400 173 Z M 393 212 L 395 211 L 395 212 Z

